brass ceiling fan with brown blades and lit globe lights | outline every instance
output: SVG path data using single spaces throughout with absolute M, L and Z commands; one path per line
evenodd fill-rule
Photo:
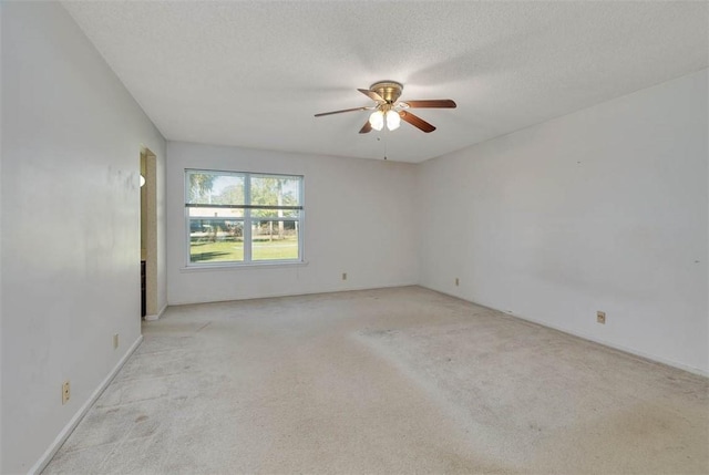
M 376 105 L 366 107 L 343 109 L 341 111 L 322 112 L 315 114 L 316 117 L 323 115 L 341 114 L 343 112 L 354 111 L 374 111 L 369 120 L 360 128 L 360 134 L 367 134 L 374 131 L 381 131 L 387 124 L 387 128 L 394 131 L 399 128 L 401 120 L 408 122 L 414 127 L 425 132 L 427 134 L 435 131 L 435 127 L 418 115 L 409 112 L 409 109 L 428 107 L 428 109 L 454 109 L 455 102 L 450 99 L 433 99 L 424 101 L 399 101 L 403 85 L 394 81 L 380 81 L 370 85 L 369 89 L 358 89 L 359 92 L 374 101 Z

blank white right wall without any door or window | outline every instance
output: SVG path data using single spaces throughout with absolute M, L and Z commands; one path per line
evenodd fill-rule
M 421 283 L 709 373 L 707 82 L 422 164 Z

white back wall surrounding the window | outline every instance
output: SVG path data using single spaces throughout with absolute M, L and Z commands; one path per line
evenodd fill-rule
M 169 304 L 417 283 L 414 165 L 178 142 L 167 154 Z M 308 264 L 185 270 L 185 168 L 304 175 Z

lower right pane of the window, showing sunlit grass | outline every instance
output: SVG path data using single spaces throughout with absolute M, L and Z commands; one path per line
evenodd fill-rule
M 298 259 L 298 221 L 256 220 L 251 225 L 251 259 Z

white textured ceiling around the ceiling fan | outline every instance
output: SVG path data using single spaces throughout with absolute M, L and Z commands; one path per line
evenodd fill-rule
M 707 68 L 706 2 L 65 1 L 163 135 L 422 162 Z M 358 134 L 404 84 L 438 130 Z

